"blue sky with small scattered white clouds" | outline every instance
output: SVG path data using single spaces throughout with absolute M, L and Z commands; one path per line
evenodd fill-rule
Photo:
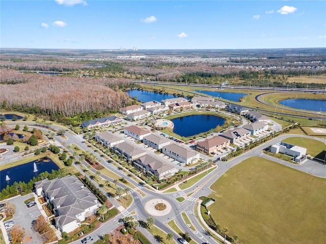
M 326 1 L 1 0 L 0 47 L 326 47 Z

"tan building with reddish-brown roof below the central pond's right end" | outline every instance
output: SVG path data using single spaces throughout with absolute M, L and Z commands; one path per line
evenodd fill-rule
M 228 138 L 214 136 L 211 138 L 206 138 L 203 141 L 197 142 L 196 149 L 203 153 L 210 154 L 222 149 L 223 147 L 229 146 L 230 142 L 231 141 Z

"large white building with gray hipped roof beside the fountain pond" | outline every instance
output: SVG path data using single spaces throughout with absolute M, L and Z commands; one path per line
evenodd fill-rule
M 55 212 L 56 228 L 71 232 L 80 227 L 90 214 L 95 214 L 99 203 L 95 195 L 75 175 L 44 179 L 35 182 L 36 194 L 51 203 Z

